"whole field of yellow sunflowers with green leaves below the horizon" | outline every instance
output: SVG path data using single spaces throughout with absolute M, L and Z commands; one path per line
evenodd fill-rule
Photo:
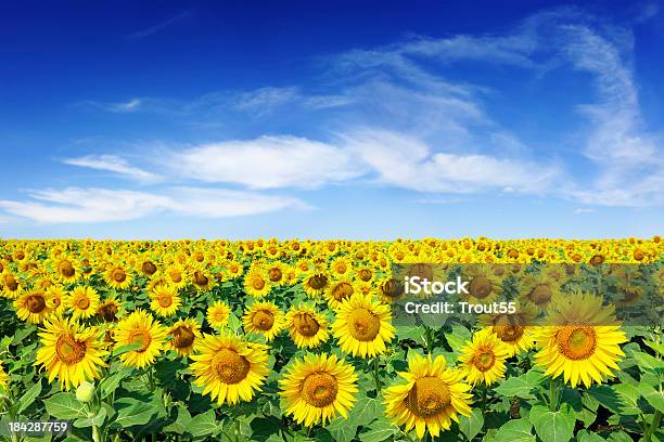
M 403 315 L 469 264 L 518 310 Z M 659 236 L 0 239 L 0 440 L 664 442 L 663 287 Z

